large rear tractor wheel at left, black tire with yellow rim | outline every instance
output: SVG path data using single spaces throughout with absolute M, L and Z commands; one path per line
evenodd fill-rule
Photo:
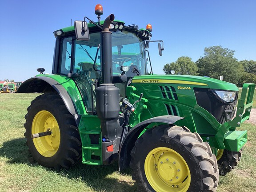
M 69 169 L 81 157 L 81 141 L 74 117 L 63 100 L 54 93 L 36 97 L 28 107 L 24 127 L 27 144 L 34 160 L 54 169 Z M 35 139 L 32 134 L 52 132 Z

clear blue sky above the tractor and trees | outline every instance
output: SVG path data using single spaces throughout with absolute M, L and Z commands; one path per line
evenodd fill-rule
M 0 80 L 24 81 L 52 71 L 53 32 L 84 16 L 97 21 L 113 13 L 126 25 L 152 24 L 152 40 L 164 40 L 163 56 L 150 45 L 153 72 L 189 56 L 194 62 L 204 48 L 220 45 L 235 50 L 238 60 L 256 60 L 256 0 L 0 0 Z

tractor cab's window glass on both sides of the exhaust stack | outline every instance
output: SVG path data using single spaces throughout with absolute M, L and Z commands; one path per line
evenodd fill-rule
M 74 43 L 72 43 L 74 42 Z M 100 44 L 100 33 L 91 33 L 90 40 L 76 40 L 72 37 L 62 39 L 62 57 L 58 69 L 59 74 L 78 73 L 89 70 L 100 76 L 100 72 L 93 70 L 94 60 L 96 68 L 100 69 L 100 51 L 96 52 Z M 74 46 L 74 49 L 72 47 Z M 74 51 L 72 51 L 74 50 Z M 127 76 L 134 76 L 133 68 L 139 70 L 140 75 L 147 74 L 144 60 L 143 41 L 136 34 L 127 31 L 112 32 L 112 67 L 113 76 L 120 75 L 121 66 L 128 66 Z M 71 59 L 72 58 L 72 59 Z M 92 78 L 90 78 L 92 79 Z

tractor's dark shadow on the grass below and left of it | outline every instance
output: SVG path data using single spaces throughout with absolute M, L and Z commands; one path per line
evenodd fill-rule
M 25 138 L 4 142 L 0 148 L 0 156 L 7 158 L 7 163 L 9 164 L 22 163 L 41 168 L 39 164 L 32 160 Z M 131 170 L 126 169 L 118 172 L 117 162 L 108 166 L 90 166 L 82 164 L 81 160 L 70 170 L 62 169 L 56 171 L 50 168 L 45 169 L 71 180 L 82 180 L 83 183 L 99 192 L 116 192 L 116 190 L 119 192 L 134 192 L 137 188 L 136 184 L 130 179 Z

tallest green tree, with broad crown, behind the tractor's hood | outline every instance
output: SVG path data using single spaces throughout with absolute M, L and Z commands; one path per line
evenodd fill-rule
M 221 46 L 204 48 L 204 56 L 196 61 L 200 76 L 209 76 L 236 84 L 244 73 L 243 65 L 234 57 L 233 50 Z

